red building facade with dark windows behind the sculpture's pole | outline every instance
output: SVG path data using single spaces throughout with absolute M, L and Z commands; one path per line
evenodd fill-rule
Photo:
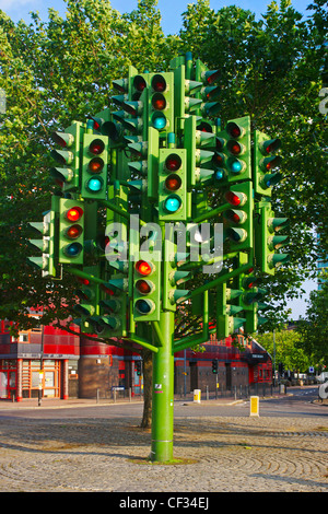
M 37 313 L 34 313 L 37 315 Z M 142 374 L 137 372 L 139 354 L 99 343 L 77 332 L 45 326 L 9 332 L 10 323 L 0 322 L 0 399 L 112 398 L 114 390 L 139 395 Z M 186 350 L 175 354 L 175 393 L 225 390 L 234 386 L 272 383 L 270 355 L 255 340 L 211 336 L 203 352 Z M 212 361 L 218 360 L 218 374 Z

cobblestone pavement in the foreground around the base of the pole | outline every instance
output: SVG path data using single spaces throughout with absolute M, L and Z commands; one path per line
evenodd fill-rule
M 1 492 L 327 492 L 328 419 L 185 418 L 151 465 L 140 419 L 0 419 Z

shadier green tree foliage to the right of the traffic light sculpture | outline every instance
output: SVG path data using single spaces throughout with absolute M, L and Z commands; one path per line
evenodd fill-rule
M 208 0 L 199 0 L 188 4 L 179 34 L 184 50 L 221 70 L 223 120 L 250 115 L 253 129 L 282 140 L 283 180 L 273 188 L 272 205 L 278 217 L 290 219 L 292 259 L 263 283 L 280 307 L 300 294 L 318 254 L 328 249 L 327 117 L 319 112 L 325 5 L 315 1 L 314 14 L 304 20 L 290 0 L 280 9 L 271 2 L 256 21 L 236 5 L 214 12 Z M 321 233 L 320 248 L 314 231 Z

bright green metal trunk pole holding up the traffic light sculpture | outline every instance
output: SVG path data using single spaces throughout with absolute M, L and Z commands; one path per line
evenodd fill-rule
M 151 460 L 173 460 L 174 425 L 174 312 L 162 312 L 159 323 L 163 346 L 153 354 Z

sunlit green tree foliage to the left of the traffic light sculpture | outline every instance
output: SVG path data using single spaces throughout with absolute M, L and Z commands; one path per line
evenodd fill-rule
M 0 87 L 7 113 L 0 118 L 0 317 L 33 324 L 27 307 L 47 306 L 44 323 L 65 319 L 74 284 L 42 279 L 26 265 L 33 255 L 28 221 L 49 209 L 50 133 L 73 119 L 110 105 L 112 82 L 128 66 L 161 69 L 172 58 L 155 2 L 140 1 L 121 15 L 107 0 L 67 2 L 67 17 L 50 9 L 44 22 L 14 24 L 0 11 Z

